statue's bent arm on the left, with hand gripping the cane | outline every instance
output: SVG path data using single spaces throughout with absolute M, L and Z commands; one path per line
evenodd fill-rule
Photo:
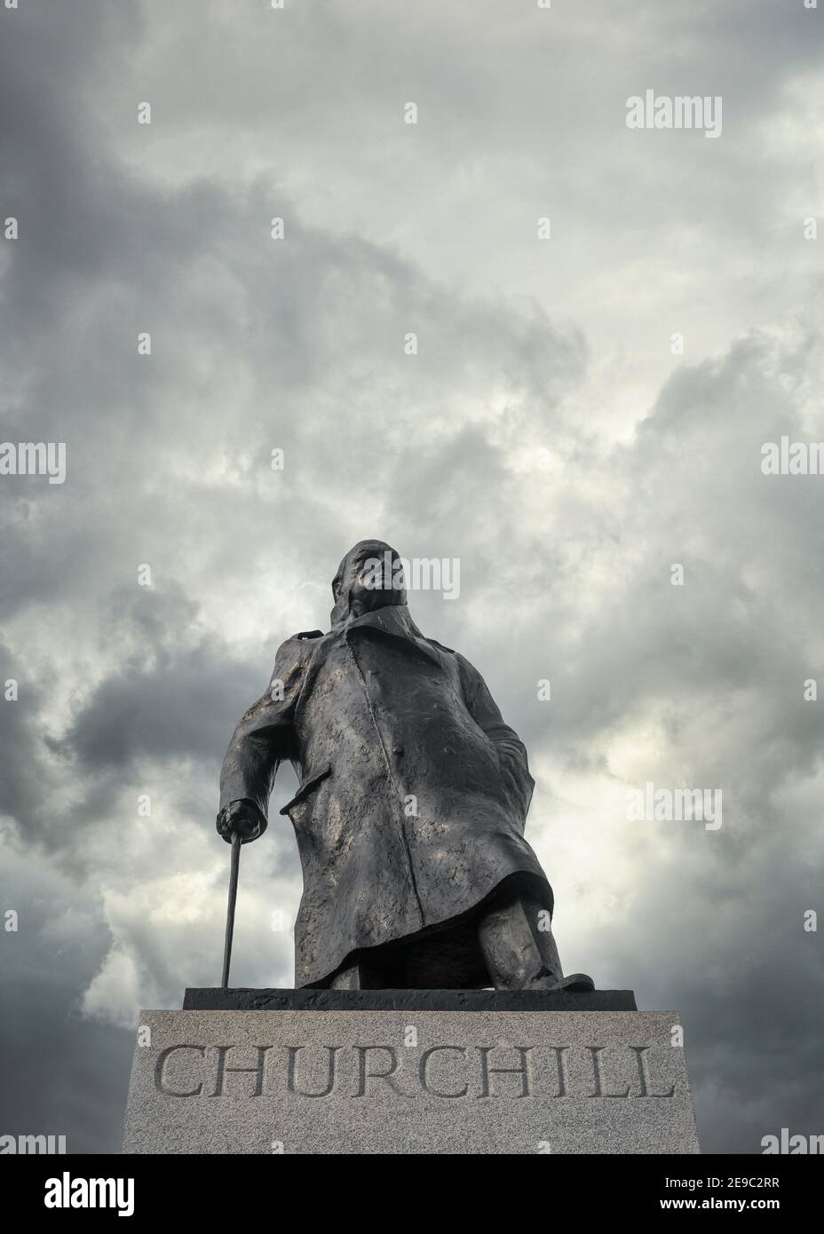
M 216 827 L 225 840 L 233 832 L 248 844 L 268 827 L 269 797 L 279 764 L 292 758 L 294 714 L 303 682 L 306 644 L 287 639 L 279 649 L 265 694 L 241 717 L 221 770 Z

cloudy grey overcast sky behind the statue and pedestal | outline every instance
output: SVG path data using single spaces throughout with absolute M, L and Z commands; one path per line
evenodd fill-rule
M 803 0 L 0 6 L 0 438 L 67 443 L 0 476 L 1 1133 L 116 1151 L 138 1008 L 220 982 L 222 755 L 364 537 L 459 559 L 412 615 L 528 748 L 567 971 L 681 1011 L 703 1149 L 824 1130 L 824 476 L 760 466 L 824 439 L 823 37 Z M 720 136 L 628 128 L 646 89 Z M 650 781 L 723 826 L 629 821 Z M 294 980 L 294 782 L 236 985 Z

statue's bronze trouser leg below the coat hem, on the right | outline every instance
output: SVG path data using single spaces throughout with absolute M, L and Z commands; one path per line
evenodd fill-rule
M 477 937 L 496 990 L 540 990 L 564 975 L 549 909 L 529 895 L 488 908 Z

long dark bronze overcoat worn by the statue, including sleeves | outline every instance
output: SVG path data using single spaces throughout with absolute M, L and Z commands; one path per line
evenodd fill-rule
M 229 743 L 221 808 L 247 800 L 266 818 L 286 759 L 300 776 L 281 810 L 303 870 L 296 986 L 461 918 L 513 874 L 540 881 L 551 909 L 523 835 L 527 752 L 480 673 L 424 638 L 405 603 L 280 647 Z

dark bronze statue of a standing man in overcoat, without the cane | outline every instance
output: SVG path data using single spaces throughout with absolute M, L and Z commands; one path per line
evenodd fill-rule
M 280 647 L 234 731 L 217 829 L 262 835 L 292 763 L 296 986 L 592 990 L 562 976 L 553 891 L 523 837 L 527 752 L 480 673 L 421 634 L 400 574 L 382 540 L 347 553 L 332 628 Z

